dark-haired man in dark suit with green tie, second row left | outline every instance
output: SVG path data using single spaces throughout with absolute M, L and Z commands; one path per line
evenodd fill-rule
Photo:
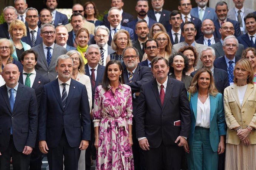
M 20 56 L 23 65 L 23 72 L 20 74 L 19 83 L 35 89 L 37 108 L 40 106 L 40 98 L 43 91 L 43 86 L 50 82 L 50 79 L 45 79 L 35 71 L 37 62 L 37 54 L 33 50 L 26 50 Z M 30 170 L 41 170 L 42 153 L 38 147 L 38 139 L 30 157 Z

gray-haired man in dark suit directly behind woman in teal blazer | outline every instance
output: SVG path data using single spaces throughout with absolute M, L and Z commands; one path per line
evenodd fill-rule
M 205 21 L 205 20 L 204 20 Z M 212 47 L 205 47 L 201 50 L 201 57 L 200 57 L 203 67 L 209 68 L 213 73 L 214 77 L 214 84 L 218 91 L 223 94 L 224 89 L 229 86 L 229 78 L 226 71 L 219 68 L 213 67 L 213 62 L 215 60 L 215 51 Z M 190 75 L 194 77 L 198 70 L 192 72 Z

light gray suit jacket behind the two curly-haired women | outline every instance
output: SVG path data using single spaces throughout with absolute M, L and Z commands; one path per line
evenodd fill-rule
M 171 54 L 173 55 L 174 53 L 178 52 L 180 50 L 180 48 L 183 48 L 186 46 L 186 43 L 185 42 L 181 42 L 181 43 L 178 43 L 178 44 L 174 44 L 173 45 L 173 49 L 171 50 Z M 196 69 L 200 69 L 203 67 L 203 63 L 201 62 L 200 60 L 200 50 L 203 48 L 203 47 L 207 47 L 206 45 L 203 45 L 203 44 L 198 44 L 195 42 L 195 48 L 196 48 L 196 51 L 198 52 L 199 56 L 198 56 L 198 59 L 197 59 L 197 65 L 196 65 Z

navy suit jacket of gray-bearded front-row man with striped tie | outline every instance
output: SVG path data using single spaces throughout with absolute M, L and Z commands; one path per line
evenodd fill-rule
M 91 119 L 85 85 L 71 79 L 66 107 L 63 109 L 58 79 L 46 84 L 40 101 L 38 137 L 48 147 L 57 147 L 65 130 L 70 147 L 91 140 Z

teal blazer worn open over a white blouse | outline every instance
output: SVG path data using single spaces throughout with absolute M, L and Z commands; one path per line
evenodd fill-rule
M 190 148 L 192 147 L 194 141 L 194 131 L 196 127 L 197 99 L 198 92 L 191 94 L 191 126 L 190 136 L 187 139 Z M 218 93 L 215 97 L 210 95 L 210 107 L 210 144 L 213 152 L 217 152 L 220 142 L 220 136 L 226 135 L 225 114 L 223 107 L 223 98 L 221 93 Z

